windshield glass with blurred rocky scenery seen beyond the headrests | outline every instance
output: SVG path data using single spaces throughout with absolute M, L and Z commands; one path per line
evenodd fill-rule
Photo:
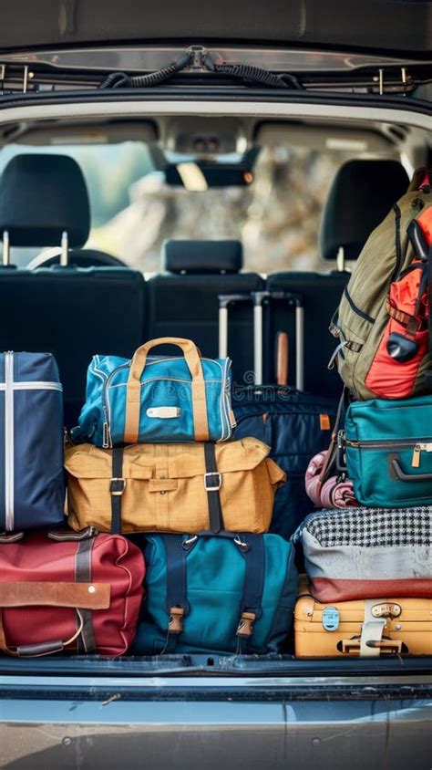
M 149 147 L 139 142 L 89 147 L 9 145 L 0 170 L 20 152 L 73 157 L 87 181 L 91 232 L 87 246 L 116 255 L 126 265 L 160 269 L 166 238 L 238 238 L 244 267 L 262 274 L 283 269 L 326 271 L 318 254 L 321 213 L 334 174 L 349 157 L 343 151 L 286 146 L 262 148 L 248 186 L 188 192 L 155 172 Z M 13 244 L 12 244 L 13 246 Z M 12 261 L 27 265 L 40 247 L 15 248 Z

